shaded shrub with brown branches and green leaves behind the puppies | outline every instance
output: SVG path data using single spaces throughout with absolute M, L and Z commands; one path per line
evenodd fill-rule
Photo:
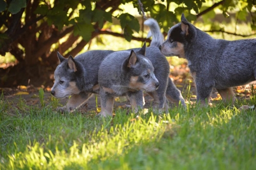
M 237 20 L 242 21 L 250 15 L 251 27 L 256 29 L 255 4 L 249 0 L 141 2 L 146 14 L 156 18 L 165 32 L 180 20 L 181 13 L 185 13 L 189 21 L 203 15 L 204 21 L 210 22 L 209 18 L 214 18 L 216 13 L 214 9 L 219 9 L 226 17 L 236 12 Z M 76 55 L 100 34 L 144 41 L 144 38 L 133 36 L 134 31 L 139 32 L 140 25 L 138 17 L 123 6 L 126 3 L 133 3 L 141 14 L 138 2 L 132 0 L 29 0 L 27 4 L 25 0 L 0 0 L 0 54 L 4 56 L 10 52 L 19 63 L 29 66 L 40 62 L 56 63 L 56 51 Z M 114 23 L 113 18 L 119 21 L 116 24 L 121 26 L 122 32 L 109 30 L 108 23 Z M 60 43 L 63 37 L 66 41 Z

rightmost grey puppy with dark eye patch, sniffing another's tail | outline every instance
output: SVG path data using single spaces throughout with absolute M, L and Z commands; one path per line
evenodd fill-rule
M 224 101 L 234 102 L 232 87 L 255 80 L 255 47 L 256 39 L 214 39 L 189 23 L 182 14 L 181 22 L 170 28 L 159 49 L 165 56 L 188 60 L 196 82 L 197 101 L 206 105 L 212 88 L 217 89 Z

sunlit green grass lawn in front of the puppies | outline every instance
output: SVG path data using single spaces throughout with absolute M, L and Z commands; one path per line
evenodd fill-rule
M 44 93 L 39 92 L 41 99 Z M 1 96 L 1 169 L 256 169 L 256 114 L 216 101 L 168 114 L 61 114 Z M 10 111 L 10 107 L 13 107 Z

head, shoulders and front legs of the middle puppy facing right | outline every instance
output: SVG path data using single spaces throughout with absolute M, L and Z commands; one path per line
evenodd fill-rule
M 129 96 L 132 109 L 143 108 L 143 91 L 152 92 L 159 87 L 151 61 L 145 57 L 146 43 L 135 52 L 119 51 L 108 55 L 99 67 L 101 111 L 99 115 L 112 115 L 115 96 Z M 167 80 L 167 79 L 166 79 Z

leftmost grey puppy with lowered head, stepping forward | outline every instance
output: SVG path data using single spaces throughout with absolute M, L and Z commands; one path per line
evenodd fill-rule
M 98 70 L 104 57 L 114 51 L 94 50 L 68 59 L 57 53 L 60 64 L 54 71 L 54 85 L 51 94 L 56 98 L 71 95 L 61 112 L 71 112 L 86 103 L 93 93 L 99 93 Z

